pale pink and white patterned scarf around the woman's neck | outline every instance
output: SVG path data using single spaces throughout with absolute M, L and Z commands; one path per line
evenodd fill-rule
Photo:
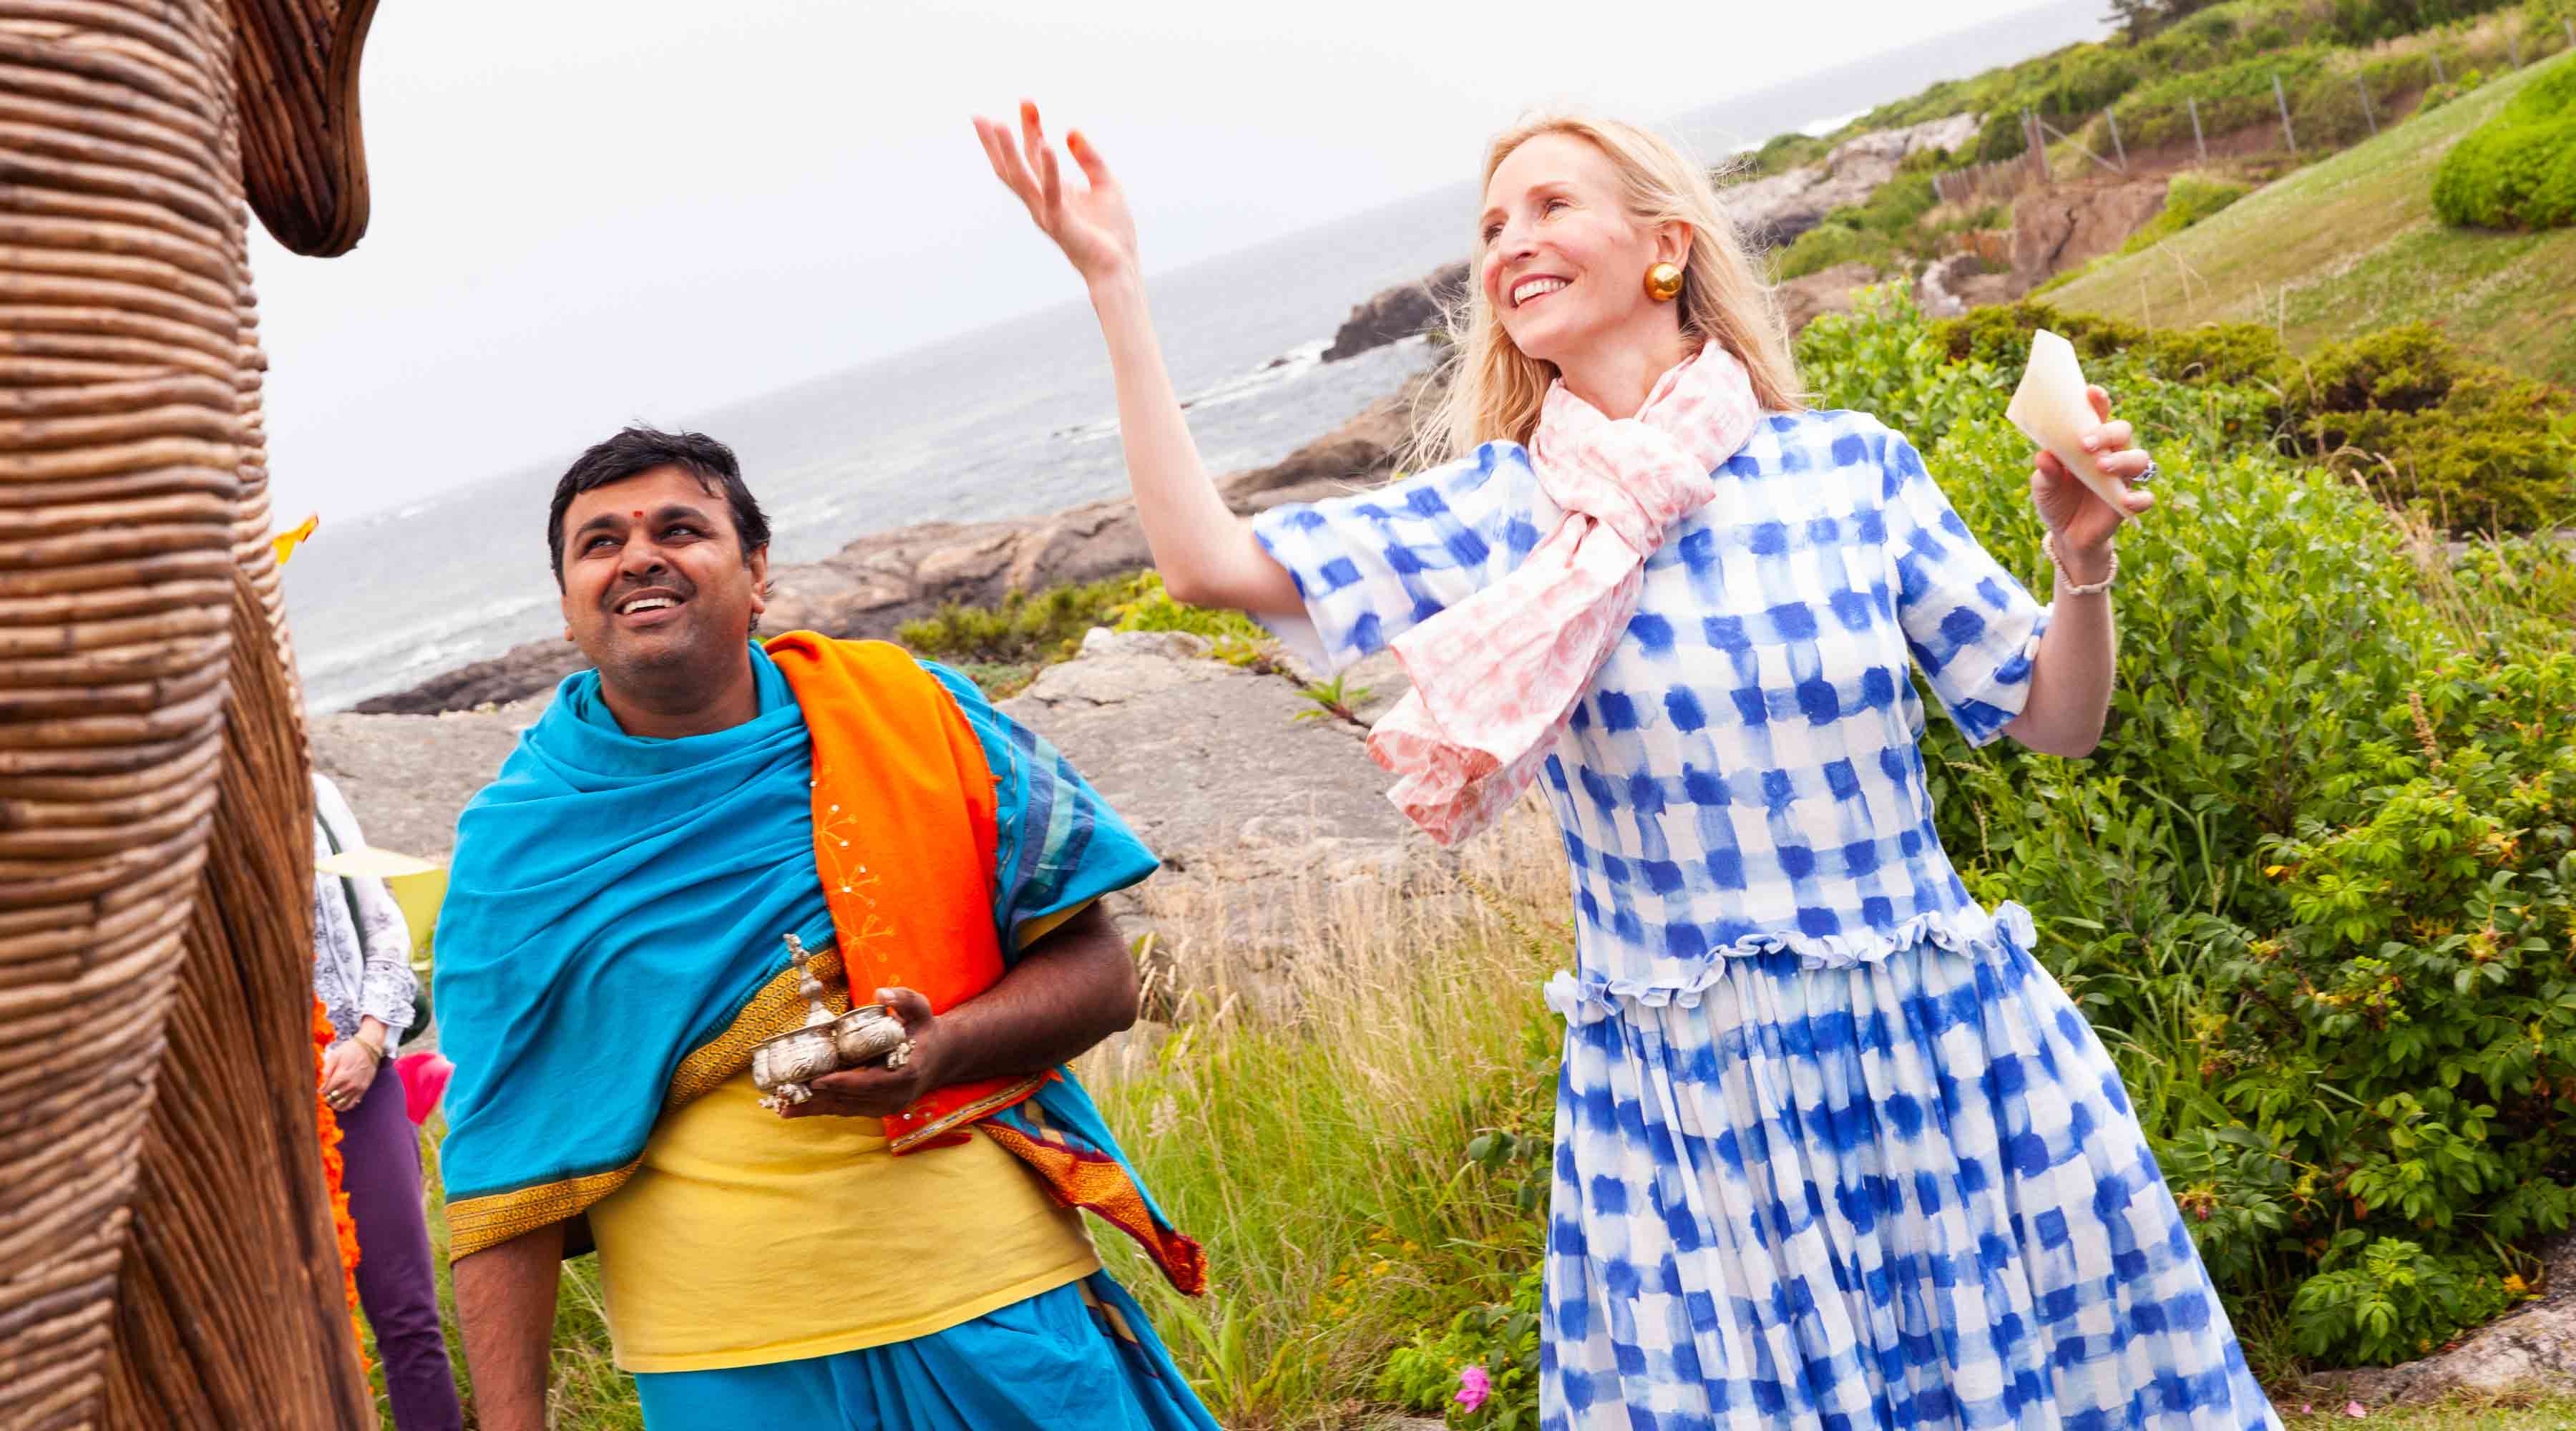
M 1636 417 L 1610 420 L 1558 381 L 1530 463 L 1564 512 L 1510 577 L 1399 636 L 1414 690 L 1368 734 L 1386 793 L 1440 844 L 1494 824 L 1528 790 L 1592 674 L 1636 615 L 1646 559 L 1716 494 L 1710 474 L 1762 420 L 1752 376 L 1716 342 Z

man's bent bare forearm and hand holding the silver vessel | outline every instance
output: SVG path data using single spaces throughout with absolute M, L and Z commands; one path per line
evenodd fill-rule
M 999 983 L 933 1017 L 909 988 L 881 988 L 912 1029 L 902 1068 L 853 1068 L 814 1078 L 814 1096 L 788 1117 L 889 1117 L 922 1094 L 976 1078 L 1054 1068 L 1136 1022 L 1136 960 L 1097 903 L 1048 929 Z

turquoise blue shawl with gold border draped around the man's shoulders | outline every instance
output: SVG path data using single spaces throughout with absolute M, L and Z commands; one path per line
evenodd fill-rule
M 832 945 L 804 713 L 757 646 L 752 669 L 760 716 L 677 741 L 623 734 L 598 672 L 567 677 L 459 818 L 435 965 L 440 1050 L 456 1063 L 440 1148 L 448 1202 L 564 1189 L 531 1202 L 507 1235 L 574 1217 L 623 1179 L 683 1058 L 788 968 L 781 934 Z M 1005 932 L 1154 870 L 1046 741 L 963 677 L 930 672 L 999 777 Z M 1018 939 L 1002 947 L 1015 957 Z M 1123 1163 L 1069 1073 L 1033 1102 L 1059 1132 Z

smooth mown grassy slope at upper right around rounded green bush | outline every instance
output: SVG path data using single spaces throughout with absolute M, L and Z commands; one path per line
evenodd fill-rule
M 2561 54 L 2419 113 L 2048 293 L 2154 327 L 2264 322 L 2311 347 L 2429 319 L 2506 368 L 2576 383 L 2576 229 L 2450 229 L 2432 172 Z

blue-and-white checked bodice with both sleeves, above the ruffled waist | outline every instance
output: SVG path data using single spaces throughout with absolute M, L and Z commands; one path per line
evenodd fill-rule
M 1868 414 L 1770 414 L 1716 479 L 1646 561 L 1546 764 L 1584 999 L 1690 1001 L 1726 955 L 1837 968 L 1994 934 L 1932 834 L 1906 661 L 1991 741 L 2030 697 L 2048 610 Z M 1306 620 L 1273 625 L 1337 669 L 1517 566 L 1556 517 L 1512 443 L 1278 507 L 1255 533 Z

